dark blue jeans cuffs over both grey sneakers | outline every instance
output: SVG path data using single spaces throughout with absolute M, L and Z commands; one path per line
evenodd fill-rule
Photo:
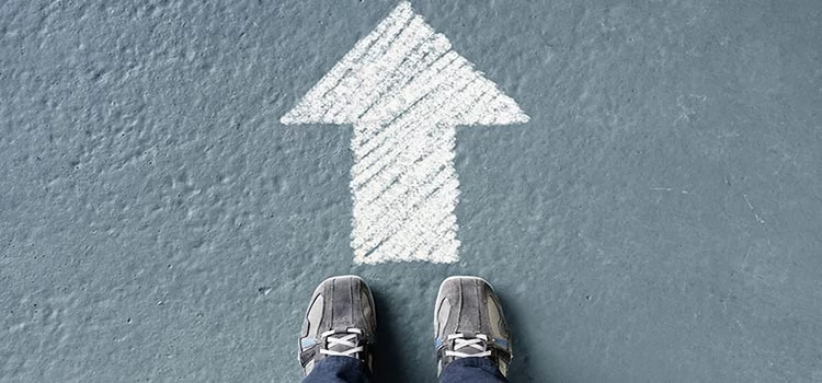
M 450 362 L 439 383 L 507 383 L 496 365 L 487 358 L 464 358 Z M 349 357 L 328 357 L 317 363 L 302 383 L 372 383 L 368 369 Z

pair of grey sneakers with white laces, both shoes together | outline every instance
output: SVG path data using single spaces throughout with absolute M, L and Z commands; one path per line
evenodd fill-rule
M 356 276 L 326 279 L 317 287 L 299 338 L 299 361 L 308 375 L 331 356 L 356 358 L 372 370 L 377 327 L 374 298 Z M 450 277 L 434 305 L 437 374 L 461 358 L 488 358 L 507 376 L 512 349 L 500 300 L 486 280 Z

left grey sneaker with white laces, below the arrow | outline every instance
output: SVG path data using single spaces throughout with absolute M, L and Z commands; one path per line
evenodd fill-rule
M 356 358 L 372 369 L 377 328 L 374 298 L 356 276 L 326 279 L 311 295 L 299 338 L 299 362 L 308 375 L 330 356 Z

